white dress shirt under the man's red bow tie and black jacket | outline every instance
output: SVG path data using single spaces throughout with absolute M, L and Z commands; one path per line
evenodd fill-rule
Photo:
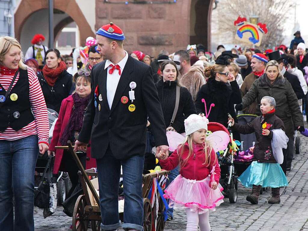
M 104 69 L 107 68 L 106 89 L 107 89 L 107 101 L 108 101 L 109 109 L 111 109 L 113 98 L 115 97 L 115 91 L 116 91 L 116 88 L 118 87 L 118 83 L 120 81 L 120 77 L 123 73 L 127 59 L 128 59 L 128 53 L 125 51 L 125 57 L 119 63 L 114 64 L 109 59 L 106 60 Z M 115 69 L 112 74 L 109 74 L 109 70 L 111 69 L 111 67 L 109 67 L 110 64 L 119 65 L 120 70 L 121 70 L 121 75 L 119 75 L 119 70 L 117 69 Z

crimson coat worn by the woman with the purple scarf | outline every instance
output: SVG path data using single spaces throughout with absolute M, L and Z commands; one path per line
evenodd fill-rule
M 61 168 L 61 160 L 63 156 L 63 149 L 55 149 L 55 146 L 62 146 L 59 143 L 59 139 L 62 136 L 64 129 L 70 120 L 71 113 L 73 110 L 74 100 L 70 95 L 67 98 L 63 99 L 61 103 L 61 108 L 59 112 L 58 120 L 55 124 L 54 132 L 52 134 L 52 139 L 49 145 L 49 151 L 56 152 L 55 156 L 55 164 L 53 173 L 57 174 L 59 171 L 64 171 L 64 168 Z M 86 169 L 96 167 L 96 160 L 91 158 L 91 148 L 87 148 L 87 161 L 86 161 Z

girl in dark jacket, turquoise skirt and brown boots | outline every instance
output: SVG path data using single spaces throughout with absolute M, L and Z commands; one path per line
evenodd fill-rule
M 276 153 L 282 155 L 281 147 L 288 142 L 287 137 L 282 132 L 285 130 L 284 124 L 275 115 L 275 106 L 276 102 L 273 97 L 264 96 L 260 103 L 262 115 L 251 123 L 245 125 L 236 124 L 233 119 L 229 119 L 229 122 L 232 121 L 233 130 L 242 134 L 256 133 L 257 142 L 253 150 L 253 162 L 238 178 L 245 187 L 252 188 L 252 194 L 246 197 L 246 200 L 252 204 L 258 204 L 261 187 L 272 188 L 272 197 L 268 201 L 269 204 L 280 203 L 279 189 L 288 185 L 286 175 L 274 158 Z M 279 131 L 276 133 L 275 129 L 281 130 L 276 130 Z M 277 147 L 280 150 L 272 149 L 274 133 L 276 137 L 278 134 L 279 138 L 281 138 L 278 144 L 276 141 L 274 143 L 275 148 Z

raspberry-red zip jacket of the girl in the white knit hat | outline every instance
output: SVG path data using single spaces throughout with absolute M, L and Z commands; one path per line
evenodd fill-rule
M 180 169 L 180 174 L 189 180 L 203 180 L 209 176 L 213 166 L 215 166 L 214 179 L 218 184 L 220 178 L 220 167 L 218 165 L 216 153 L 214 150 L 212 150 L 211 162 L 209 166 L 206 166 L 206 164 L 203 164 L 205 162 L 205 154 L 203 152 L 203 148 L 204 147 L 202 144 L 196 144 L 194 146 L 193 154 L 190 156 L 187 163 Z M 179 152 L 181 152 L 180 149 Z M 174 169 L 179 164 L 179 162 L 182 162 L 187 158 L 188 152 L 188 143 L 186 143 L 184 146 L 183 156 L 180 160 L 177 150 L 175 150 L 168 159 L 159 160 L 161 167 L 168 171 Z

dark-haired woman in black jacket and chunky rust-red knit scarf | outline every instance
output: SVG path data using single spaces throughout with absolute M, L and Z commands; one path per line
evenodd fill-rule
M 70 94 L 72 75 L 66 71 L 66 64 L 57 49 L 49 49 L 45 59 L 46 65 L 38 75 L 39 83 L 47 108 L 59 113 L 62 100 Z

